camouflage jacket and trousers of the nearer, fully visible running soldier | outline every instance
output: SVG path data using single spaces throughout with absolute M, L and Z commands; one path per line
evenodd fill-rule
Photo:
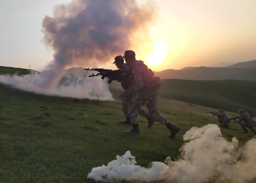
M 158 111 L 160 78 L 154 77 L 154 73 L 141 60 L 135 61 L 130 70 L 133 73 L 134 84 L 127 90 L 127 94 L 133 97 L 128 104 L 127 116 L 137 117 L 139 107 L 146 105 L 148 113 L 155 121 L 166 124 L 168 119 Z

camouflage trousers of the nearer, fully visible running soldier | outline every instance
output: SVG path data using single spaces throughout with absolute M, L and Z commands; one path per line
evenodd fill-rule
M 131 101 L 128 103 L 127 117 L 138 117 L 139 107 L 146 105 L 150 117 L 156 122 L 166 124 L 168 119 L 158 111 L 158 92 L 157 90 L 142 90 L 132 95 Z

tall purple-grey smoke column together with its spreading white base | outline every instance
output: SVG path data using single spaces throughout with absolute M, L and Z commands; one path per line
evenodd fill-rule
M 87 73 L 72 73 L 77 80 L 69 81 L 74 83 L 59 85 L 69 77 L 64 69 L 109 63 L 132 47 L 133 39 L 146 44 L 147 26 L 157 18 L 154 6 L 152 1 L 138 5 L 135 0 L 73 0 L 57 5 L 53 16 L 45 16 L 42 23 L 43 41 L 54 51 L 53 60 L 40 73 L 1 76 L 0 82 L 36 93 L 113 99 L 106 82 L 89 80 Z

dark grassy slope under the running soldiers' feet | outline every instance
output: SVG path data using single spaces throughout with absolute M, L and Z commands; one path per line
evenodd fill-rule
M 121 90 L 111 91 L 117 98 Z M 159 111 L 181 127 L 175 139 L 158 123 L 146 128 L 142 117 L 141 134 L 126 134 L 131 127 L 118 124 L 124 119 L 119 101 L 51 97 L 0 84 L 0 182 L 86 182 L 92 168 L 128 150 L 142 167 L 167 156 L 175 160 L 186 131 L 217 123 L 205 113 L 216 109 L 192 103 L 160 97 Z M 241 144 L 253 137 L 234 123 L 221 131 Z

